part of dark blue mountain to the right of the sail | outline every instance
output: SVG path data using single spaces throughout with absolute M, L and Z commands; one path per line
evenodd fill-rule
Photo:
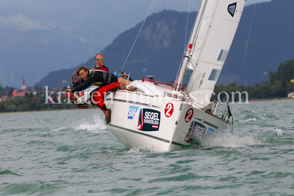
M 239 78 L 254 4 L 243 10 L 232 46 L 220 73 L 218 83 L 228 84 Z M 267 81 L 264 72 L 294 57 L 294 1 L 273 0 L 256 4 L 248 48 L 240 83 L 256 84 Z

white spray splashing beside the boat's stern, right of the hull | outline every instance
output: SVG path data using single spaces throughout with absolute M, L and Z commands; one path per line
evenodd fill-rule
M 219 133 L 215 135 L 213 138 L 208 138 L 202 142 L 202 145 L 205 148 L 212 147 L 225 147 L 225 148 L 239 148 L 239 147 L 249 147 L 249 146 L 257 146 L 264 145 L 256 139 L 253 138 L 252 135 L 239 135 L 232 133 Z

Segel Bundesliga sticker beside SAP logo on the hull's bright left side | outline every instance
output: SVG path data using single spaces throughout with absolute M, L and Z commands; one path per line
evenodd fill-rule
M 160 112 L 157 110 L 141 108 L 138 120 L 138 130 L 158 131 L 160 123 Z

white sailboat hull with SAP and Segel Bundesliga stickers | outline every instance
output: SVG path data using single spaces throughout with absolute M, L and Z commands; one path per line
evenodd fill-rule
M 112 111 L 111 122 L 105 125 L 128 149 L 180 150 L 193 139 L 206 139 L 227 126 L 211 113 L 163 96 L 116 91 L 105 102 Z

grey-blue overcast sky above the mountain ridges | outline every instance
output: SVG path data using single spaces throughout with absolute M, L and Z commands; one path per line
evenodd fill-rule
M 264 1 L 268 0 L 257 0 L 257 2 Z M 101 37 L 98 48 L 102 50 L 120 33 L 141 22 L 146 17 L 152 2 L 152 0 L 1 0 L 0 17 L 19 16 L 21 13 L 30 19 L 74 29 L 83 19 L 83 15 L 93 14 L 98 18 L 96 25 L 100 28 L 96 33 L 97 39 Z M 201 0 L 190 0 L 189 6 L 189 0 L 155 0 L 150 14 L 163 9 L 188 11 L 188 6 L 189 11 L 198 11 L 200 2 Z M 245 6 L 254 3 L 255 0 L 247 0 Z

